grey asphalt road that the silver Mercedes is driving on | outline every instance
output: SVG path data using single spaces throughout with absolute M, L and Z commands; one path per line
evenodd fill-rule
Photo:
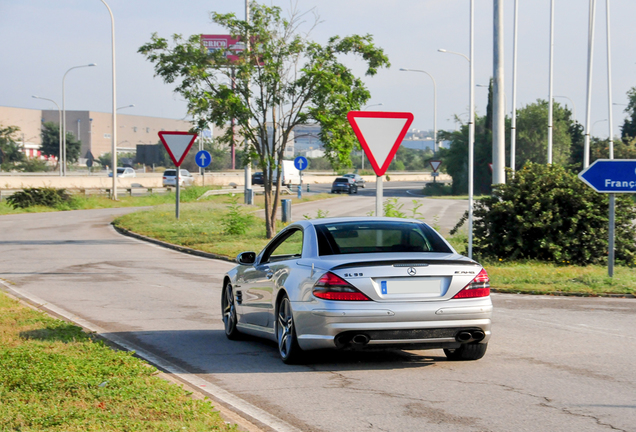
M 636 431 L 633 299 L 495 294 L 477 362 L 315 352 L 286 366 L 269 342 L 225 339 L 230 263 L 120 236 L 109 222 L 128 211 L 0 216 L 0 286 L 138 350 L 263 430 Z

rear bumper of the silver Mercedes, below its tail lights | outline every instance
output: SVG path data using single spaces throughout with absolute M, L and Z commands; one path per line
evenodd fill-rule
M 475 332 L 470 342 L 490 339 L 490 297 L 444 302 L 293 302 L 298 344 L 320 348 L 457 348 L 457 335 Z M 483 335 L 479 332 L 483 332 Z M 364 343 L 355 343 L 356 336 Z M 483 336 L 483 337 L 482 337 Z M 367 340 L 365 340 L 367 338 Z

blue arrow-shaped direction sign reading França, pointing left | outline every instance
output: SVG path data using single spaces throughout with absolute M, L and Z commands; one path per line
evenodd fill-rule
M 579 178 L 597 192 L 636 193 L 636 160 L 597 159 Z

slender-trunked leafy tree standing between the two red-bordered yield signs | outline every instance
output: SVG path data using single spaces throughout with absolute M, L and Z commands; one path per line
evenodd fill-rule
M 277 176 L 273 191 L 272 174 L 280 169 L 293 128 L 318 123 L 332 164 L 350 165 L 357 142 L 346 114 L 359 109 L 370 94 L 340 59 L 361 57 L 369 76 L 389 62 L 370 35 L 335 36 L 320 45 L 300 32 L 305 18 L 296 11 L 283 18 L 280 8 L 257 3 L 250 11 L 249 23 L 234 14 L 212 13 L 215 24 L 249 41 L 235 52 L 237 60 L 228 60 L 223 50 L 208 52 L 200 35 L 187 40 L 174 35 L 171 45 L 154 34 L 139 52 L 154 63 L 156 75 L 176 83 L 175 91 L 188 101 L 199 128 L 208 122 L 225 127 L 235 119 L 238 127 L 226 128 L 223 139 L 230 142 L 235 133 L 245 139 L 246 151 L 264 173 L 266 234 L 271 238 L 282 178 Z

